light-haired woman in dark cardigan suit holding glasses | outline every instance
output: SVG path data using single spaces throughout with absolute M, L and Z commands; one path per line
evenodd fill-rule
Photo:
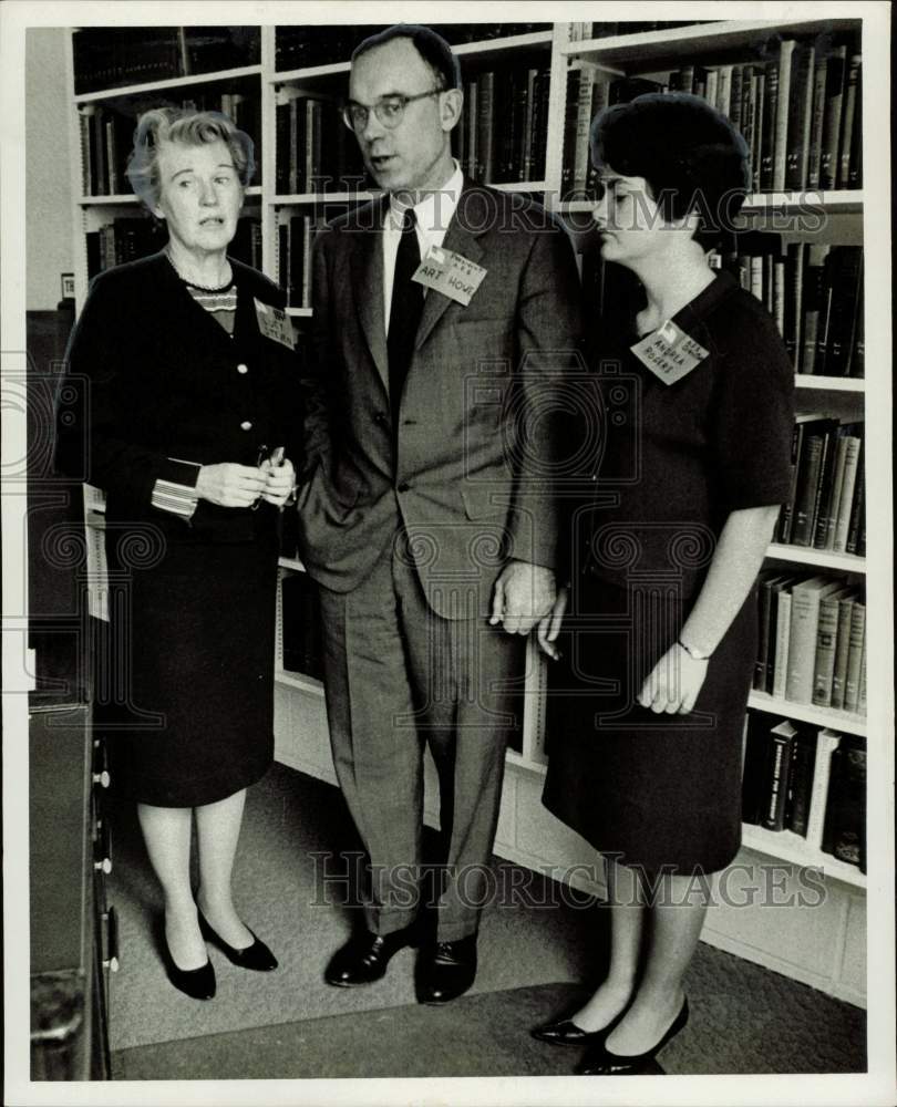
M 251 138 L 224 115 L 141 116 L 127 174 L 168 242 L 92 282 L 68 354 L 84 424 L 59 442 L 61 468 L 106 492 L 116 686 L 97 724 L 162 884 L 168 976 L 204 1000 L 204 938 L 245 969 L 277 965 L 230 888 L 246 788 L 272 758 L 278 532 L 300 418 L 283 297 L 227 255 L 252 172 Z

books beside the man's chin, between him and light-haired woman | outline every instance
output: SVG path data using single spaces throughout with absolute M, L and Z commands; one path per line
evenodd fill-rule
M 364 164 L 355 136 L 344 126 L 340 105 L 281 90 L 275 107 L 278 195 L 357 192 L 364 187 Z

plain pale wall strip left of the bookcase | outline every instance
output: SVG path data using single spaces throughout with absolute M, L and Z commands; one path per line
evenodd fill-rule
M 72 187 L 65 30 L 29 28 L 25 34 L 25 307 L 53 310 L 60 273 L 72 272 Z

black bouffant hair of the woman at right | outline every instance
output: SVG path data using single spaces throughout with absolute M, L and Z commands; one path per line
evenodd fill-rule
M 704 249 L 734 230 L 751 184 L 750 151 L 730 121 L 700 96 L 648 93 L 592 120 L 591 159 L 643 177 L 664 219 L 698 215 Z

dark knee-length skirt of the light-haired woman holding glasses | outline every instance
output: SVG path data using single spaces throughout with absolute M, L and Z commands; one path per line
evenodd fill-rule
M 197 807 L 254 784 L 274 757 L 278 544 L 269 534 L 163 546 L 161 559 L 135 557 L 133 544 L 107 540 L 95 723 L 116 790 Z

